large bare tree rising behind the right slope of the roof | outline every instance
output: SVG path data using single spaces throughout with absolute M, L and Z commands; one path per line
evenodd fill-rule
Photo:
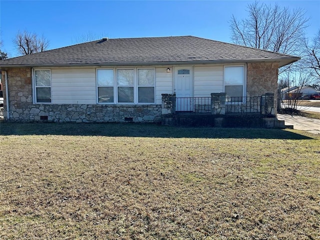
M 304 10 L 290 11 L 287 7 L 254 2 L 247 6 L 248 17 L 230 20 L 231 39 L 234 43 L 280 52 L 299 54 L 308 19 Z

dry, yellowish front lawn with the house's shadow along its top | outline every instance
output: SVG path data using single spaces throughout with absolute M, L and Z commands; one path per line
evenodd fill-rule
M 0 122 L 0 239 L 319 239 L 320 136 Z

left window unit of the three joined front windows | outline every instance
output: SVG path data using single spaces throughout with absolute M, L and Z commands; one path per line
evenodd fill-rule
M 96 70 L 98 102 L 114 102 L 113 69 Z

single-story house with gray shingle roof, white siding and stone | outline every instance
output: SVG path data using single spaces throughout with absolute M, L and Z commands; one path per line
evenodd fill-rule
M 0 61 L 4 115 L 11 121 L 159 122 L 167 113 L 163 94 L 224 92 L 242 104 L 243 97 L 276 94 L 278 68 L 298 59 L 195 36 L 102 38 Z

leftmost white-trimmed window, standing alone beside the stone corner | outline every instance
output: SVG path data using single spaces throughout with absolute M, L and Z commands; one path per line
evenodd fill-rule
M 51 70 L 34 70 L 35 102 L 51 102 Z

